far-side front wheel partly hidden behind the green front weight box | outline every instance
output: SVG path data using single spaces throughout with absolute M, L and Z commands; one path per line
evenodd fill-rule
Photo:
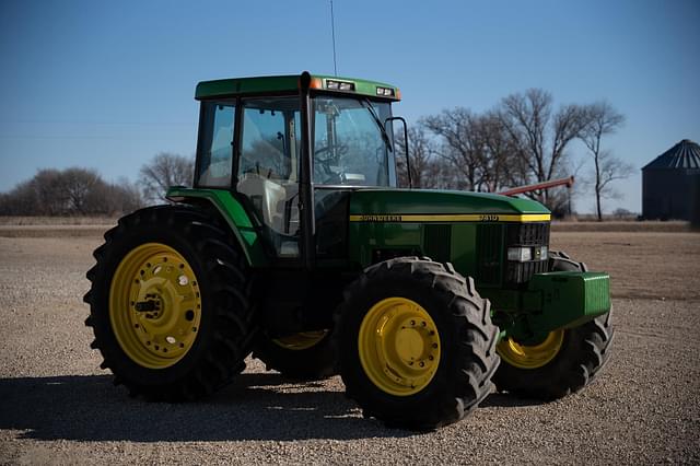
M 565 253 L 550 253 L 550 270 L 586 271 Z M 552 400 L 594 381 L 608 362 L 614 329 L 611 311 L 571 329 L 551 331 L 537 345 L 504 338 L 497 347 L 501 365 L 495 386 L 522 398 Z

